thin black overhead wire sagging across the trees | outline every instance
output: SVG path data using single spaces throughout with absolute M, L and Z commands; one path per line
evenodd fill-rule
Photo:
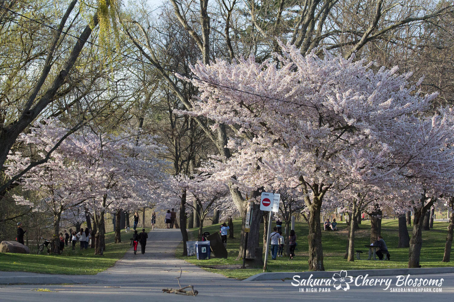
M 47 28 L 49 28 L 49 29 L 58 31 L 58 32 L 60 32 L 60 33 L 62 33 L 62 34 L 64 34 L 64 35 L 68 35 L 68 36 L 70 36 L 70 37 L 76 38 L 76 39 L 78 39 L 78 40 L 80 40 L 80 41 L 82 41 L 82 42 L 84 42 L 84 43 L 89 43 L 90 45 L 93 45 L 93 46 L 96 46 L 96 47 L 99 47 L 99 48 L 104 48 L 105 50 L 111 51 L 111 52 L 116 53 L 116 54 L 118 54 L 118 55 L 120 55 L 120 56 L 129 58 L 129 59 L 132 59 L 132 60 L 137 61 L 137 62 L 141 62 L 141 63 L 144 63 L 144 64 L 148 64 L 148 65 L 151 65 L 151 66 L 153 66 L 153 67 L 160 68 L 160 69 L 165 70 L 165 71 L 167 71 L 167 72 L 172 72 L 172 73 L 174 73 L 174 74 L 178 74 L 178 75 L 183 76 L 183 77 L 188 77 L 188 78 L 190 78 L 190 79 L 192 79 L 192 80 L 197 80 L 197 81 L 206 82 L 206 83 L 211 84 L 211 85 L 213 85 L 213 86 L 219 86 L 219 87 L 222 87 L 222 88 L 227 88 L 227 89 L 231 89 L 231 90 L 238 91 L 238 92 L 243 92 L 243 93 L 246 93 L 246 94 L 249 94 L 249 95 L 252 95 L 252 96 L 264 97 L 264 98 L 271 99 L 271 100 L 274 100 L 274 101 L 281 101 L 281 102 L 284 102 L 284 103 L 294 104 L 294 105 L 298 105 L 298 106 L 312 107 L 312 106 L 309 106 L 309 105 L 299 104 L 299 103 L 295 103 L 295 102 L 292 102 L 292 101 L 285 101 L 285 100 L 281 100 L 281 99 L 276 99 L 276 98 L 271 97 L 271 96 L 262 96 L 262 95 L 259 95 L 259 94 L 257 94 L 257 93 L 254 93 L 254 92 L 244 91 L 244 90 L 241 90 L 241 89 L 237 89 L 237 88 L 225 86 L 225 85 L 222 85 L 222 84 L 213 83 L 212 81 L 202 80 L 202 79 L 200 79 L 200 78 L 198 78 L 198 77 L 194 77 L 194 76 L 191 76 L 191 75 L 188 75 L 188 74 L 185 74 L 185 73 L 173 71 L 173 70 L 171 70 L 171 69 L 168 69 L 168 68 L 165 68 L 165 67 L 162 67 L 162 66 L 155 65 L 155 64 L 153 64 L 153 63 L 151 63 L 151 62 L 143 61 L 143 60 L 141 60 L 141 59 L 139 59 L 139 58 L 133 58 L 133 57 L 131 57 L 131 56 L 127 55 L 127 54 L 124 54 L 124 53 L 118 53 L 117 51 L 115 51 L 115 50 L 113 50 L 113 49 L 109 49 L 109 48 L 106 48 L 106 47 L 104 47 L 104 46 L 101 46 L 101 45 L 99 45 L 99 44 L 97 44 L 97 43 L 93 43 L 93 42 L 90 42 L 90 41 L 88 41 L 88 40 L 81 39 L 81 38 L 79 38 L 79 37 L 77 37 L 77 36 L 74 36 L 74 35 L 72 35 L 72 34 L 68 34 L 67 32 L 64 32 L 64 31 L 61 31 L 61 30 L 59 30 L 59 29 L 56 29 L 56 28 L 54 28 L 53 26 L 50 26 L 50 25 L 48 25 L 48 24 L 44 24 L 44 23 L 40 22 L 39 20 L 36 20 L 36 19 L 30 18 L 30 17 L 27 17 L 27 16 L 25 16 L 25 15 L 23 15 L 23 14 L 20 14 L 20 13 L 18 13 L 18 12 L 15 12 L 14 10 L 10 10 L 9 8 L 6 8 L 6 7 L 3 6 L 3 5 L 0 5 L 0 8 L 2 8 L 2 9 L 4 9 L 4 10 L 7 10 L 7 11 L 9 11 L 9 12 L 11 12 L 11 13 L 17 15 L 17 16 L 22 17 L 22 18 L 25 18 L 25 19 L 28 19 L 28 20 L 33 21 L 33 22 L 35 22 L 35 23 L 41 24 L 41 25 L 43 25 L 43 26 L 45 26 L 45 27 L 47 27 Z M 15 21 L 12 21 L 12 22 L 18 24 L 18 23 L 15 22 Z

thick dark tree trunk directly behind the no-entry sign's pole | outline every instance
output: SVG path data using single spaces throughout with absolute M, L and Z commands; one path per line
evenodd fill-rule
M 246 250 L 246 258 L 255 258 L 256 257 L 256 248 L 259 246 L 259 230 L 260 230 L 260 219 L 262 218 L 262 211 L 260 210 L 260 205 L 254 203 L 253 210 L 252 210 L 252 222 L 251 222 L 251 230 L 249 231 L 249 235 L 247 237 L 247 250 Z M 240 238 L 240 250 L 238 253 L 237 260 L 243 258 L 244 253 L 244 240 L 245 235 L 244 232 L 244 221 L 246 219 L 246 212 L 247 209 L 244 207 L 242 209 L 242 224 L 241 224 L 241 238 Z

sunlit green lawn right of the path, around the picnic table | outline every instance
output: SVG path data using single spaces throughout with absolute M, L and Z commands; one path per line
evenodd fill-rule
M 235 239 L 227 239 L 228 259 L 212 258 L 208 260 L 197 260 L 195 256 L 183 257 L 181 248 L 177 250 L 177 257 L 184 259 L 192 264 L 199 266 L 216 266 L 229 264 L 242 264 L 242 261 L 235 260 L 238 256 L 239 238 L 241 232 L 241 221 L 234 221 Z M 367 261 L 356 260 L 347 262 L 344 259 L 345 247 L 347 243 L 347 225 L 340 221 L 337 224 L 339 231 L 323 231 L 322 244 L 325 270 L 342 270 L 342 269 L 374 269 L 374 268 L 406 268 L 408 265 L 408 248 L 398 249 L 398 221 L 383 220 L 381 226 L 381 235 L 384 237 L 388 250 L 390 252 L 390 261 Z M 275 226 L 274 223 L 272 225 Z M 423 231 L 423 245 L 421 250 L 420 264 L 422 267 L 443 267 L 453 266 L 454 262 L 441 262 L 444 253 L 444 244 L 446 242 L 448 222 L 434 221 L 434 228 L 430 231 Z M 260 238 L 263 234 L 263 225 L 260 232 Z M 276 260 L 268 261 L 269 272 L 302 272 L 308 270 L 308 243 L 307 235 L 308 228 L 306 223 L 296 223 L 295 232 L 297 236 L 296 257 L 289 260 L 288 257 L 278 257 Z M 219 231 L 219 225 L 209 225 L 203 228 L 211 234 Z M 411 236 L 412 227 L 408 227 Z M 198 229 L 189 230 L 189 237 L 192 240 L 197 238 Z M 262 240 L 260 240 L 262 242 Z M 355 232 L 355 250 L 360 249 L 364 253 L 361 258 L 367 258 L 368 249 L 364 246 L 370 243 L 370 222 L 363 221 L 360 225 L 360 230 Z M 265 257 L 265 255 L 264 255 Z M 454 254 L 452 255 L 454 257 Z M 271 259 L 271 256 L 268 258 Z M 208 271 L 222 273 L 230 278 L 244 279 L 262 273 L 262 268 L 248 269 L 213 269 L 205 268 Z

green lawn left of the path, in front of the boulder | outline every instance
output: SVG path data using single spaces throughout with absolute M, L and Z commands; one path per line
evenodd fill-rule
M 114 265 L 131 248 L 132 234 L 122 232 L 121 236 L 122 242 L 115 244 L 114 232 L 106 233 L 104 256 L 94 255 L 94 249 L 80 251 L 79 242 L 76 250 L 69 245 L 61 255 L 47 255 L 45 248 L 41 255 L 0 253 L 0 271 L 94 275 Z

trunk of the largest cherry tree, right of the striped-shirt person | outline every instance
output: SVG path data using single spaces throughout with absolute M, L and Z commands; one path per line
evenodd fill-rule
M 309 235 L 307 235 L 310 271 L 325 270 L 325 266 L 323 265 L 323 248 L 321 246 L 321 203 L 322 201 L 318 197 L 314 197 L 312 203 L 308 206 L 309 213 L 311 214 L 308 222 Z

